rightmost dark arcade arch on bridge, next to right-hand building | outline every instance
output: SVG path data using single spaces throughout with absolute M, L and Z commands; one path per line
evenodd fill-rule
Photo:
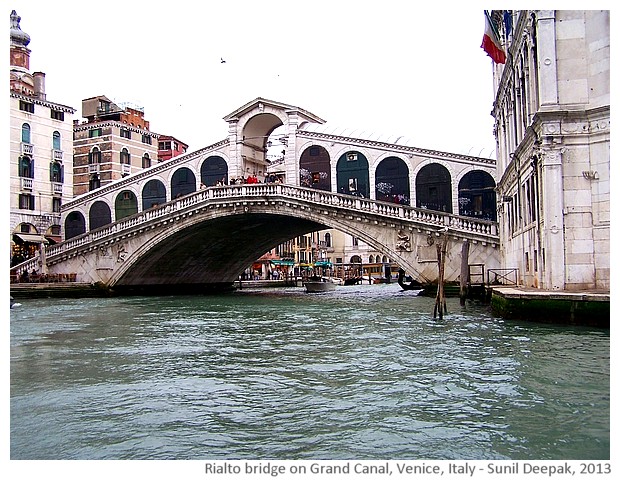
M 459 215 L 497 221 L 495 180 L 482 170 L 467 172 L 459 181 Z

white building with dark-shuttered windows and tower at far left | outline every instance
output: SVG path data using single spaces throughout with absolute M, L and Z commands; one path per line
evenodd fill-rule
M 60 208 L 73 197 L 73 115 L 47 99 L 45 74 L 30 72 L 30 36 L 13 10 L 10 26 L 11 264 L 63 236 Z

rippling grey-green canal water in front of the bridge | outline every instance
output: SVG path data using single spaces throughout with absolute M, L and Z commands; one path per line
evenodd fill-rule
M 609 331 L 396 284 L 22 300 L 12 459 L 605 459 Z

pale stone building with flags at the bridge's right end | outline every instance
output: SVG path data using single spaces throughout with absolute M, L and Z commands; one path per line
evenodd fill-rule
M 501 260 L 525 286 L 610 286 L 609 11 L 494 11 Z

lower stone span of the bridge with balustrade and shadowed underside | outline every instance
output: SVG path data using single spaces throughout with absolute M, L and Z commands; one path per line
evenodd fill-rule
M 471 241 L 471 263 L 498 266 L 493 222 L 351 195 L 259 184 L 199 190 L 50 246 L 47 267 L 50 273 L 77 272 L 80 281 L 120 289 L 230 283 L 270 248 L 325 228 L 374 246 L 422 282 L 437 276 L 430 240 L 440 235 L 450 239 L 447 280 L 458 277 L 464 240 Z M 22 267 L 31 268 L 27 263 Z

